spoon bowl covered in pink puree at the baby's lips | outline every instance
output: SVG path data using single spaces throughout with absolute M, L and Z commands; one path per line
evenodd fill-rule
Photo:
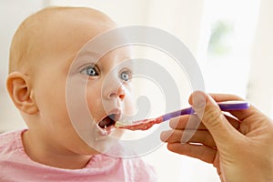
M 141 121 L 136 121 L 134 123 L 130 123 L 129 125 L 127 125 L 124 122 L 117 121 L 115 124 L 115 127 L 121 128 L 121 129 L 129 129 L 132 131 L 147 130 L 150 127 L 154 126 L 155 124 L 161 123 L 162 121 L 163 120 L 162 120 L 161 116 L 157 117 L 157 118 L 153 118 L 153 119 L 145 119 L 145 120 L 141 120 Z

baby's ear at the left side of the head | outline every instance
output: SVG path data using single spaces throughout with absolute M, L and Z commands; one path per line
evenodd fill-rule
M 6 87 L 15 106 L 22 112 L 34 115 L 38 112 L 35 96 L 27 76 L 20 72 L 13 72 L 7 76 Z

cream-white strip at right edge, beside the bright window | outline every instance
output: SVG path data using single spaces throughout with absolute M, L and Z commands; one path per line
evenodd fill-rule
M 261 0 L 248 84 L 248 99 L 273 117 L 273 1 Z

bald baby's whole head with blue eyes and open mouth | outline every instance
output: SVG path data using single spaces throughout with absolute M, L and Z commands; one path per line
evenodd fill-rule
M 90 145 L 97 139 L 99 149 L 106 149 L 107 137 L 103 132 L 97 133 L 104 127 L 105 133 L 120 136 L 119 131 L 112 131 L 113 123 L 107 116 L 118 119 L 132 106 L 127 96 L 131 70 L 120 65 L 129 59 L 128 51 L 126 48 L 110 51 L 97 62 L 92 60 L 92 50 L 78 54 L 90 39 L 115 27 L 116 23 L 107 15 L 83 7 L 45 8 L 19 26 L 10 49 L 7 88 L 29 127 L 25 135 L 57 150 L 88 155 L 96 153 Z M 76 57 L 81 54 L 87 58 L 79 61 L 81 58 Z M 75 58 L 77 63 L 71 66 Z M 67 76 L 75 88 L 86 86 L 86 106 L 94 123 L 84 131 L 76 131 L 73 123 L 92 121 L 86 121 L 80 112 L 76 113 L 78 121 L 71 121 L 66 103 Z M 110 81 L 106 81 L 108 78 Z M 75 92 L 74 98 L 80 94 Z M 96 137 L 88 145 L 77 135 L 86 131 L 90 133 L 85 136 Z

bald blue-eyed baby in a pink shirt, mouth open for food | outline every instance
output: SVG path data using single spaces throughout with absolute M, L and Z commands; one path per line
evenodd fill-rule
M 19 26 L 6 86 L 28 128 L 0 136 L 0 181 L 156 180 L 154 169 L 141 159 L 104 154 L 116 145 L 109 136 L 122 135 L 112 120 L 131 109 L 131 70 L 122 66 L 130 57 L 126 48 L 72 66 L 89 40 L 113 28 L 116 23 L 107 15 L 84 7 L 48 7 Z M 69 116 L 68 77 L 75 87 L 86 85 L 91 144 Z

